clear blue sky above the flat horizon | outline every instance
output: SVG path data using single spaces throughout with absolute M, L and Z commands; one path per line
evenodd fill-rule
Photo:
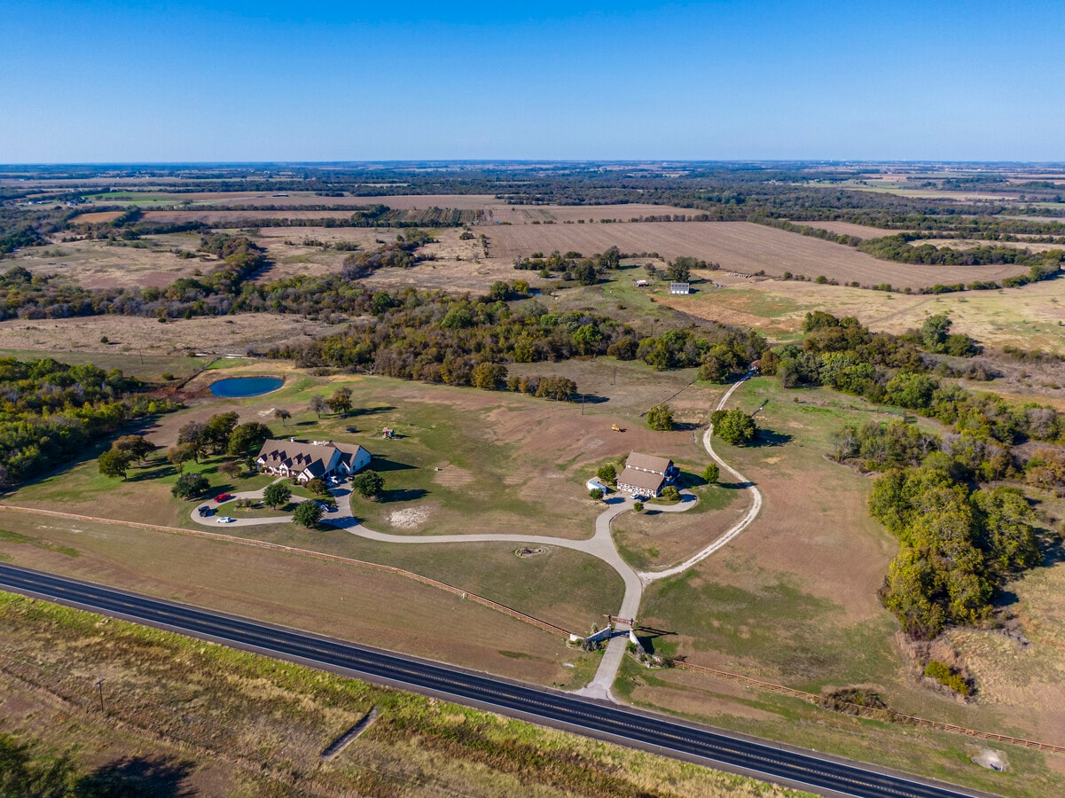
M 1050 0 L 5 0 L 0 162 L 1065 161 L 1062 33 Z

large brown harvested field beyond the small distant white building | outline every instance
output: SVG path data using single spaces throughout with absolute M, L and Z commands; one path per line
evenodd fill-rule
M 488 232 L 494 258 L 511 260 L 534 251 L 576 250 L 584 255 L 618 246 L 625 253 L 655 251 L 716 261 L 728 272 L 772 276 L 785 272 L 824 275 L 864 286 L 887 282 L 922 288 L 937 282 L 998 280 L 1020 273 L 1018 266 L 918 266 L 882 261 L 841 244 L 785 232 L 748 222 L 646 222 L 620 225 L 514 225 Z

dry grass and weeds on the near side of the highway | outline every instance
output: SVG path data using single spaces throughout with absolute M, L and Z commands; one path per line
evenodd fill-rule
M 82 772 L 162 763 L 138 794 L 800 795 L 43 602 L 0 595 L 0 726 L 72 750 Z M 371 707 L 365 734 L 320 762 Z

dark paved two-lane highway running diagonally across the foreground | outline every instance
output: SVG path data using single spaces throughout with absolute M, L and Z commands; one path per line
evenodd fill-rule
M 876 798 L 971 795 L 813 751 L 29 569 L 0 564 L 0 587 L 819 793 Z

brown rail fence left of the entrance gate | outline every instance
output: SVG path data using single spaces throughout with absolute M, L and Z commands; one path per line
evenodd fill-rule
M 489 609 L 495 609 L 504 615 L 509 615 L 515 620 L 520 620 L 523 623 L 528 623 L 536 626 L 537 629 L 543 630 L 544 632 L 550 632 L 558 637 L 564 637 L 570 639 L 571 634 L 560 626 L 556 626 L 553 623 L 547 623 L 547 621 L 542 621 L 539 618 L 534 618 L 531 615 L 526 615 L 521 610 L 508 607 L 506 604 L 499 604 L 497 601 L 492 601 L 491 599 L 486 599 L 484 596 L 478 596 L 477 593 L 472 593 L 469 590 L 463 590 L 461 587 L 455 587 L 455 585 L 448 585 L 446 582 L 438 582 L 429 576 L 423 576 L 420 573 L 414 573 L 413 571 L 405 571 L 403 568 L 395 568 L 394 566 L 384 566 L 380 563 L 366 563 L 362 559 L 351 559 L 350 557 L 342 557 L 339 554 L 326 554 L 325 552 L 316 552 L 312 549 L 298 549 L 293 545 L 282 545 L 281 543 L 271 543 L 265 540 L 256 540 L 255 538 L 241 538 L 231 535 L 222 535 L 217 532 L 207 532 L 206 530 L 182 530 L 180 526 L 162 526 L 160 524 L 146 524 L 140 521 L 120 521 L 113 518 L 95 518 L 93 516 L 79 516 L 73 512 L 61 512 L 60 510 L 46 510 L 37 507 L 19 507 L 12 504 L 0 504 L 0 510 L 11 510 L 13 512 L 27 512 L 30 515 L 42 515 L 51 516 L 53 518 L 64 518 L 70 521 L 88 521 L 91 523 L 101 523 L 101 524 L 117 524 L 118 526 L 130 526 L 135 530 L 151 530 L 152 532 L 165 532 L 171 535 L 187 535 L 194 538 L 207 538 L 208 540 L 220 540 L 229 543 L 237 543 L 240 545 L 250 545 L 256 549 L 268 549 L 272 551 L 284 552 L 285 554 L 297 554 L 304 557 L 313 557 L 314 559 L 324 559 L 330 563 L 343 563 L 344 565 L 355 566 L 356 568 L 368 568 L 372 571 L 383 571 L 386 573 L 394 573 L 397 576 L 403 576 L 404 579 L 413 580 L 414 582 L 421 582 L 423 585 L 429 585 L 439 590 L 445 590 L 454 596 L 458 596 L 461 599 L 473 601 L 477 604 L 481 604 Z

